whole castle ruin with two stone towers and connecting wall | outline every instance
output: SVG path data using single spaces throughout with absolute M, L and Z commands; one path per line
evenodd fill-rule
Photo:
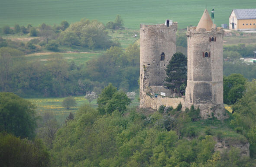
M 224 30 L 204 10 L 197 27 L 188 27 L 188 82 L 185 97 L 164 86 L 166 66 L 176 52 L 177 22 L 140 25 L 140 107 L 158 109 L 179 103 L 200 108 L 203 119 L 226 117 L 223 104 Z

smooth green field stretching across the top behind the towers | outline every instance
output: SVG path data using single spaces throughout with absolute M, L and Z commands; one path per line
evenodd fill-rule
M 125 27 L 159 24 L 165 19 L 178 22 L 179 28 L 197 25 L 207 6 L 215 8 L 215 23 L 228 23 L 232 9 L 255 8 L 255 0 L 0 0 L 0 27 L 14 24 L 33 26 L 69 23 L 81 18 L 113 21 L 117 14 Z

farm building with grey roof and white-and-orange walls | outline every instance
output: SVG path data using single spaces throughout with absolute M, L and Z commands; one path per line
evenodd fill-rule
M 233 9 L 229 16 L 230 30 L 256 30 L 256 9 Z

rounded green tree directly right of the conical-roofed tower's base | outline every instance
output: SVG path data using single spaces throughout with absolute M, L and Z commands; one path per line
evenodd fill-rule
M 223 98 L 225 104 L 234 104 L 242 98 L 245 91 L 246 78 L 241 74 L 231 74 L 223 79 Z

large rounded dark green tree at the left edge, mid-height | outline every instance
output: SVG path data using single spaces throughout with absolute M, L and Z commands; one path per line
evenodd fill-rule
M 13 93 L 0 93 L 0 130 L 17 137 L 34 137 L 36 129 L 35 105 Z

